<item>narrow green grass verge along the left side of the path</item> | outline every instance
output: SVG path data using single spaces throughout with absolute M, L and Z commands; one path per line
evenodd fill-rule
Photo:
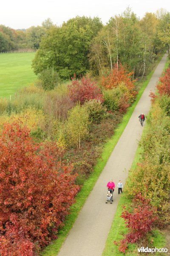
M 157 60 L 156 66 L 161 60 L 162 56 Z M 156 67 L 155 67 L 156 68 Z M 155 69 L 154 69 L 155 70 Z M 133 105 L 128 108 L 127 113 L 124 115 L 122 122 L 118 125 L 118 127 L 115 129 L 114 135 L 111 137 L 111 139 L 104 144 L 104 148 L 102 151 L 101 158 L 98 159 L 96 166 L 94 167 L 94 172 L 89 176 L 88 180 L 85 181 L 84 185 L 82 186 L 82 189 L 76 196 L 76 203 L 71 206 L 71 213 L 66 216 L 64 221 L 64 227 L 59 230 L 58 232 L 58 239 L 56 239 L 53 243 L 45 247 L 45 249 L 42 252 L 42 256 L 56 256 L 59 252 L 62 243 L 65 241 L 68 232 L 71 230 L 79 211 L 81 210 L 82 206 L 84 205 L 88 195 L 90 194 L 91 190 L 93 189 L 96 180 L 98 179 L 100 173 L 102 172 L 103 168 L 105 167 L 108 158 L 111 155 L 111 152 L 113 151 L 115 145 L 117 144 L 119 138 L 121 137 L 129 119 L 132 115 L 137 103 L 139 102 L 140 97 L 142 96 L 142 93 L 144 92 L 144 89 L 147 87 L 147 84 L 150 81 L 151 76 L 154 73 L 154 70 L 149 73 L 149 75 L 146 77 L 146 81 L 143 82 L 141 89 L 139 90 L 138 95 L 136 96 L 136 101 L 133 103 Z M 112 240 L 113 241 L 113 240 Z

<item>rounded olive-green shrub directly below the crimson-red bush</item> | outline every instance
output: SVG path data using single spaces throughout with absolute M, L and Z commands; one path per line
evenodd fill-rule
M 85 108 L 88 111 L 90 122 L 100 122 L 106 116 L 107 109 L 102 106 L 99 100 L 91 99 L 85 102 Z

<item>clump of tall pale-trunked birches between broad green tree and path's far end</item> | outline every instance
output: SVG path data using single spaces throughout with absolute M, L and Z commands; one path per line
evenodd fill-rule
M 161 50 L 157 37 L 158 19 L 147 13 L 142 20 L 127 8 L 122 15 L 111 17 L 108 24 L 93 39 L 90 64 L 93 74 L 106 72 L 119 66 L 119 61 L 142 76 L 155 55 Z

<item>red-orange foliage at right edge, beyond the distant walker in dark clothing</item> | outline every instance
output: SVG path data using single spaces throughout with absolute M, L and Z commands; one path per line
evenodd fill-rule
M 167 94 L 170 96 L 170 67 L 168 67 L 164 75 L 160 77 L 156 87 L 160 95 Z

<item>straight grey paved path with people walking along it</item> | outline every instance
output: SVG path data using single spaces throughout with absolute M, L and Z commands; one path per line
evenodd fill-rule
M 105 247 L 105 241 L 111 228 L 113 216 L 121 195 L 117 189 L 113 193 L 113 204 L 105 204 L 106 184 L 113 178 L 115 185 L 119 180 L 125 184 L 128 170 L 138 146 L 138 140 L 142 135 L 142 126 L 139 123 L 140 113 L 148 114 L 150 109 L 150 90 L 154 91 L 156 82 L 164 68 L 167 55 L 161 59 L 147 88 L 141 96 L 130 120 L 116 144 L 105 168 L 103 169 L 94 189 L 86 200 L 79 216 L 61 247 L 58 256 L 101 256 Z M 115 227 L 116 230 L 116 227 Z

